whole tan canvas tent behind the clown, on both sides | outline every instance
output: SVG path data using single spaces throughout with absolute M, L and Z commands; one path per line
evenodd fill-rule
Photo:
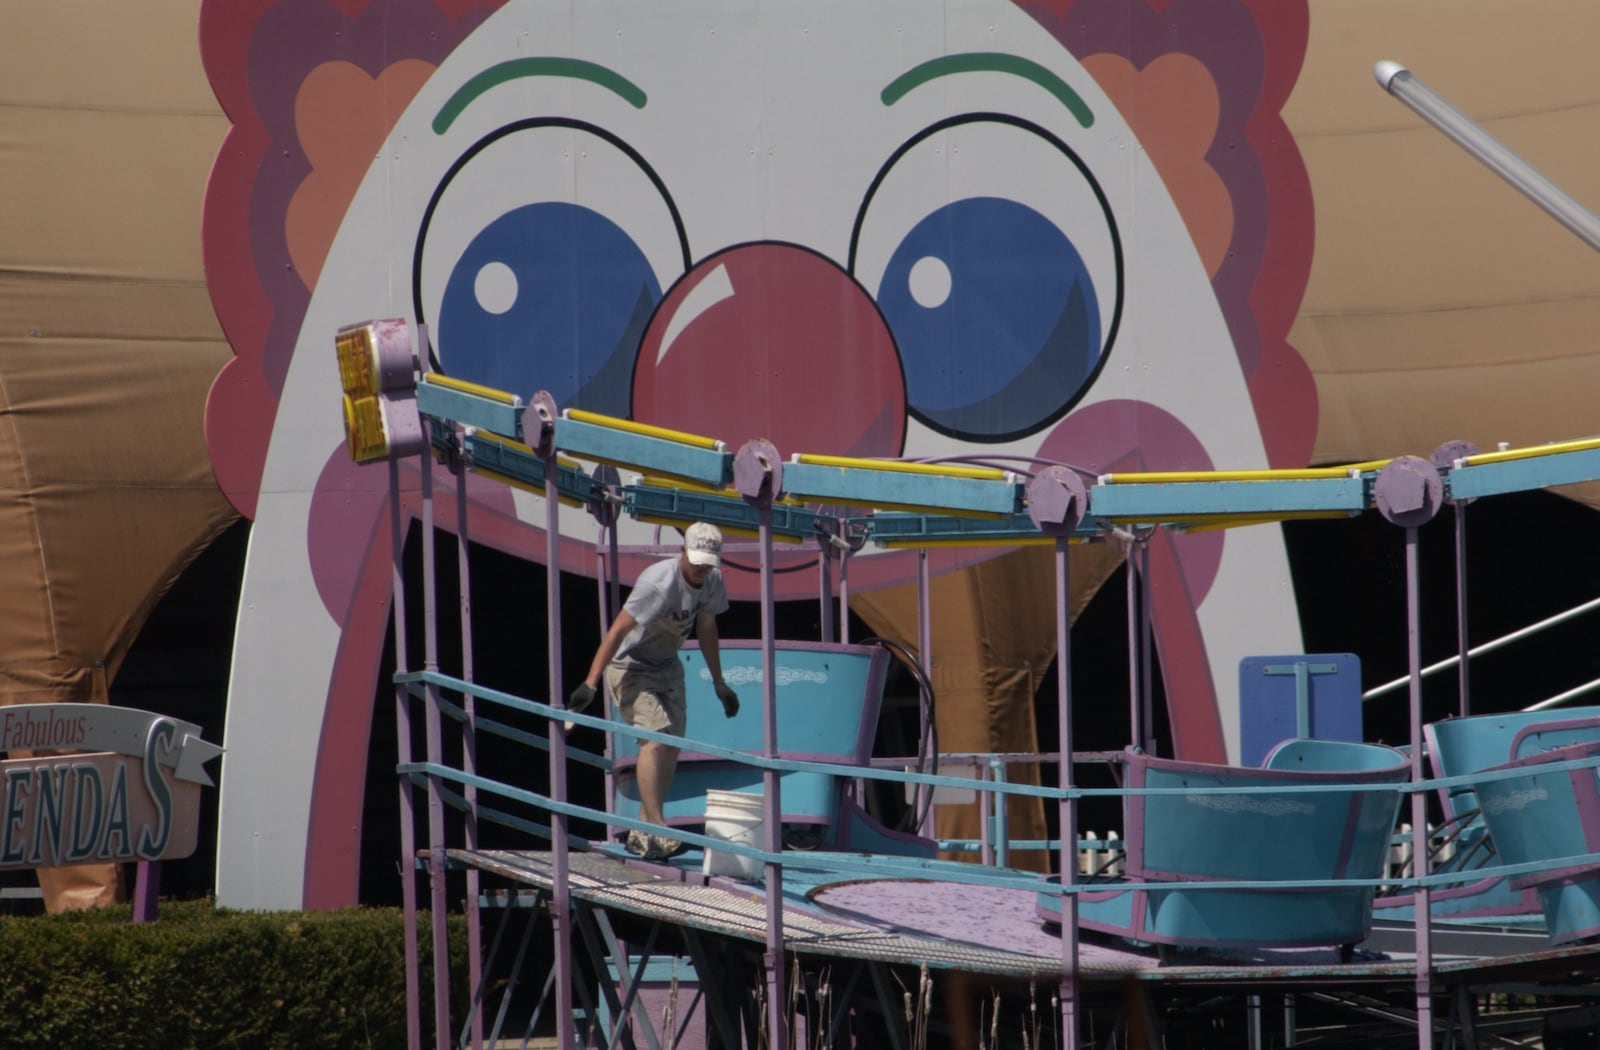
M 200 69 L 197 11 L 0 10 L 0 703 L 104 701 L 149 610 L 234 517 L 200 431 L 230 351 L 200 264 L 227 120 Z M 1290 341 L 1318 386 L 1315 463 L 1600 429 L 1600 259 L 1371 77 L 1378 59 L 1405 62 L 1600 205 L 1597 45 L 1590 0 L 1523 0 L 1514 16 L 1502 0 L 1310 0 L 1285 117 L 1317 240 L 1304 301 L 1285 309 L 1298 307 Z M 939 584 L 962 610 L 934 640 L 965 698 L 941 709 L 958 719 L 947 746 L 1037 746 L 1037 682 L 1018 667 L 1042 674 L 1050 642 L 1019 626 L 1037 608 L 992 602 L 1014 583 L 1005 571 Z M 862 603 L 914 639 L 902 597 Z M 114 885 L 82 874 L 54 906 Z

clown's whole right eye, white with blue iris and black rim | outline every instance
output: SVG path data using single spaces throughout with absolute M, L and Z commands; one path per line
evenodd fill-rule
M 1016 117 L 950 117 L 899 147 L 862 200 L 850 267 L 894 335 L 907 411 L 963 442 L 1050 426 L 1117 339 L 1106 194 L 1061 138 Z

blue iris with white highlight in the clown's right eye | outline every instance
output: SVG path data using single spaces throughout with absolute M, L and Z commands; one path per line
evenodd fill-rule
M 917 222 L 890 256 L 878 309 L 912 413 L 950 434 L 1034 429 L 1099 365 L 1093 275 L 1053 222 L 1013 200 L 958 200 Z

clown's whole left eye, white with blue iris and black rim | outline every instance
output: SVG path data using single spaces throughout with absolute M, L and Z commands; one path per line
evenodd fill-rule
M 531 118 L 477 139 L 445 173 L 411 295 L 446 375 L 627 416 L 645 328 L 686 267 L 677 206 L 635 149 Z

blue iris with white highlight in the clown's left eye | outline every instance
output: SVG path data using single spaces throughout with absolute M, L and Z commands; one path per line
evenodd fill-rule
M 616 222 L 581 205 L 523 205 L 478 232 L 451 269 L 440 367 L 626 416 L 634 357 L 659 301 L 650 262 Z

